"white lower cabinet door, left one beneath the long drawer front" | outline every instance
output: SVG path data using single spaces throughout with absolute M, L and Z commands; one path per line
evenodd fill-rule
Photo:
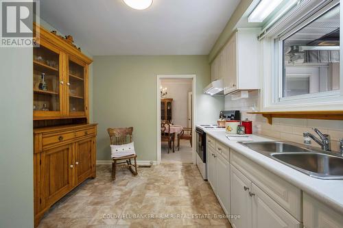
M 240 216 L 240 218 L 232 219 L 231 225 L 233 228 L 252 227 L 252 199 L 249 197 L 249 190 L 252 188 L 252 183 L 233 165 L 230 165 L 230 168 L 231 214 Z

